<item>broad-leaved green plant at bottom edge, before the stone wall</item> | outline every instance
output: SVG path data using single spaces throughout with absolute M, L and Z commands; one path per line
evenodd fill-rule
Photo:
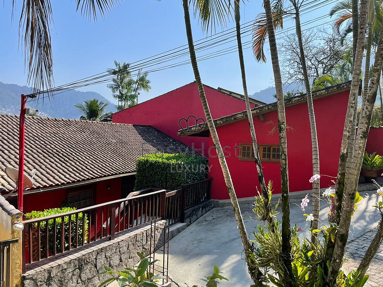
M 160 281 L 164 279 L 162 275 L 155 275 L 150 272 L 150 265 L 154 265 L 158 260 L 150 261 L 151 258 L 146 258 L 141 253 L 137 253 L 141 260 L 139 264 L 132 268 L 125 268 L 122 271 L 113 271 L 108 266 L 103 266 L 104 272 L 110 277 L 102 282 L 99 287 L 106 283 L 117 281 L 120 287 L 158 287 Z

